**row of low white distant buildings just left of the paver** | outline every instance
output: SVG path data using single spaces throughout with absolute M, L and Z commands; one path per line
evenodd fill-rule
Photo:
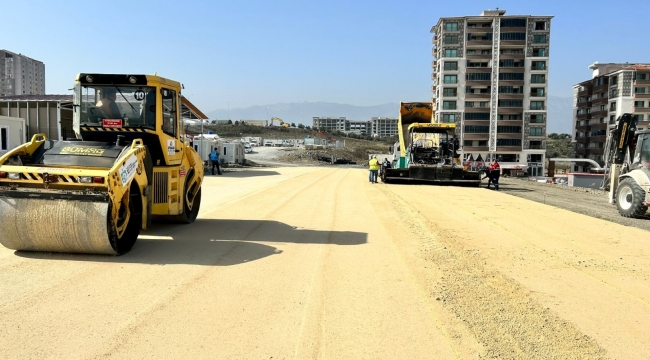
M 378 137 L 397 135 L 397 118 L 373 117 L 370 120 L 347 120 L 345 117 L 314 117 L 313 128 Z

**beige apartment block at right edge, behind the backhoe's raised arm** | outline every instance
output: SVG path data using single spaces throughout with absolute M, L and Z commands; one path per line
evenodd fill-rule
M 638 117 L 638 129 L 650 128 L 650 64 L 589 66 L 592 78 L 573 86 L 573 138 L 575 157 L 604 162 L 609 129 L 624 113 Z M 575 163 L 573 171 L 589 172 L 588 163 Z

